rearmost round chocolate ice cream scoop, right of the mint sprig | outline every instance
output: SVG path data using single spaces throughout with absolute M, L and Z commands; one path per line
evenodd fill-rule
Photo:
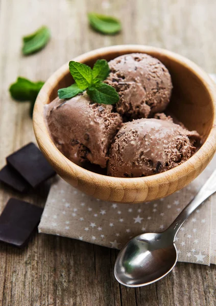
M 148 118 L 169 104 L 172 81 L 169 71 L 156 58 L 133 53 L 109 62 L 105 83 L 119 94 L 116 110 L 128 119 Z

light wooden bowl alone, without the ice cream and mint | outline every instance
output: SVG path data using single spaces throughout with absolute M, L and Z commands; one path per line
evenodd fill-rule
M 43 155 L 67 183 L 102 200 L 138 203 L 176 192 L 193 181 L 210 162 L 216 150 L 216 87 L 195 63 L 151 46 L 105 47 L 85 53 L 74 61 L 93 66 L 97 59 L 109 61 L 128 53 L 147 53 L 169 69 L 174 86 L 170 110 L 189 130 L 197 130 L 203 137 L 203 145 L 189 160 L 163 173 L 127 179 L 91 172 L 69 161 L 55 146 L 44 120 L 44 105 L 57 97 L 59 88 L 73 83 L 68 63 L 53 73 L 42 87 L 35 103 L 33 124 Z

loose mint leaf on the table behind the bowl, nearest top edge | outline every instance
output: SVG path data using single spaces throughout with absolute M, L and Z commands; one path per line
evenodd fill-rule
M 100 33 L 113 35 L 121 31 L 121 22 L 114 17 L 89 13 L 88 20 L 91 27 Z

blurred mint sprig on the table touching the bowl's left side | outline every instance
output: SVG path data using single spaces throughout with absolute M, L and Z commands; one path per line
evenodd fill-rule
M 25 78 L 18 77 L 16 82 L 10 86 L 9 91 L 15 100 L 31 102 L 30 114 L 32 115 L 36 97 L 43 84 L 44 82 L 41 81 L 31 82 Z

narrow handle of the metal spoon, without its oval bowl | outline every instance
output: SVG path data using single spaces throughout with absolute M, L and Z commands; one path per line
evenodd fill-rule
M 166 231 L 173 234 L 174 241 L 184 221 L 214 192 L 216 192 L 216 170 L 214 170 L 193 200 L 189 202 L 180 215 L 167 228 Z

